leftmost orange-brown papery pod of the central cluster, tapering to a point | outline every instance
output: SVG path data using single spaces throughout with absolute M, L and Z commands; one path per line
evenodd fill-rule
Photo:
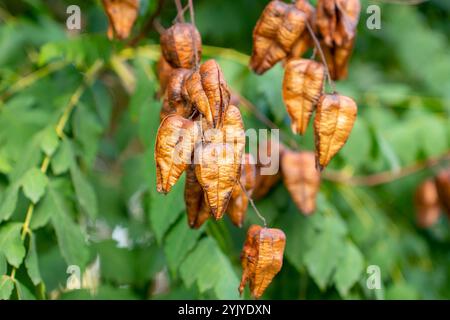
M 191 163 L 198 128 L 193 121 L 168 115 L 156 136 L 155 161 L 158 192 L 167 193 Z

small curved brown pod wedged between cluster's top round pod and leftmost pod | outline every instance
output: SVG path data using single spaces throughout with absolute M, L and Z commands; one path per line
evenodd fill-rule
M 185 89 L 185 81 L 191 74 L 189 69 L 175 69 L 167 83 L 166 95 L 171 109 L 175 109 L 176 113 L 184 118 L 189 118 L 194 111 Z

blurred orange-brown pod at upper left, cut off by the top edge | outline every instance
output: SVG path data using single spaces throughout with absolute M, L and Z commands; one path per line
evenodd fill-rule
M 102 0 L 109 20 L 108 38 L 126 39 L 139 12 L 138 0 Z

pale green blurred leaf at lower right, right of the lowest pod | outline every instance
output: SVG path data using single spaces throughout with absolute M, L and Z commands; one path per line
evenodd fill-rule
M 334 283 L 342 297 L 347 296 L 349 289 L 359 280 L 363 269 L 364 258 L 361 251 L 352 242 L 346 242 L 334 274 Z

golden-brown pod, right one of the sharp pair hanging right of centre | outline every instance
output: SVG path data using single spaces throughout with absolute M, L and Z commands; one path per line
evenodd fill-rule
M 356 103 L 346 96 L 325 94 L 320 97 L 314 119 L 316 164 L 320 171 L 347 142 L 357 109 Z

